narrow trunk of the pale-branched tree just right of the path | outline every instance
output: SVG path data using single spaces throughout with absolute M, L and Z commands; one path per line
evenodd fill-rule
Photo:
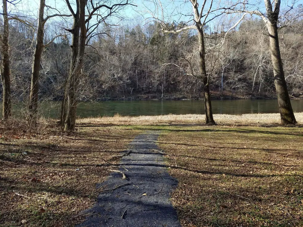
M 198 41 L 199 41 L 199 69 L 201 74 L 201 81 L 204 86 L 204 107 L 205 107 L 205 122 L 206 124 L 215 124 L 211 110 L 211 98 L 209 91 L 208 76 L 205 67 L 205 46 L 204 46 L 204 35 L 201 25 L 198 25 Z

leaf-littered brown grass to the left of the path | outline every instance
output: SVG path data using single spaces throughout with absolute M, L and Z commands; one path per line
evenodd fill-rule
M 95 202 L 96 184 L 109 175 L 104 160 L 119 155 L 136 134 L 83 126 L 62 137 L 57 126 L 48 126 L 30 138 L 20 128 L 1 135 L 0 226 L 79 223 L 85 218 L 79 212 Z

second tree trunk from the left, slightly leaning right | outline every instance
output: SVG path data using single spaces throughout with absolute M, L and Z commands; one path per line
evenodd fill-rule
M 45 21 L 43 19 L 44 6 L 45 6 L 45 0 L 40 0 L 37 40 L 36 40 L 35 54 L 34 54 L 33 65 L 32 65 L 31 90 L 30 90 L 29 101 L 28 101 L 28 125 L 30 128 L 35 128 L 37 123 L 39 72 L 40 72 L 41 54 L 43 50 L 43 33 L 44 33 L 44 24 L 45 24 Z

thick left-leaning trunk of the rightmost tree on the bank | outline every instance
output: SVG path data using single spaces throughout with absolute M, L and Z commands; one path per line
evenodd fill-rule
M 283 71 L 283 64 L 281 60 L 277 23 L 268 22 L 267 28 L 269 32 L 270 55 L 271 62 L 274 68 L 274 83 L 277 92 L 279 111 L 281 115 L 281 124 L 295 124 L 296 119 L 291 107 L 287 84 Z

